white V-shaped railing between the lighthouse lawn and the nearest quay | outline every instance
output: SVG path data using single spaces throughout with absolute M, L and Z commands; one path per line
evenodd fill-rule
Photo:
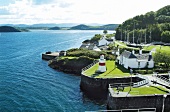
M 146 85 L 149 83 L 148 77 L 140 75 L 140 74 L 138 74 L 137 77 L 142 78 L 144 80 L 142 80 L 140 82 L 133 83 L 133 87 L 140 87 L 140 86 L 143 86 L 143 85 Z

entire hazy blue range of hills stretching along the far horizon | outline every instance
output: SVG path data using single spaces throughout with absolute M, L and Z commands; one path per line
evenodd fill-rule
M 11 26 L 21 29 L 43 29 L 43 30 L 115 30 L 118 27 L 118 24 L 108 24 L 101 25 L 97 23 L 91 23 L 89 25 L 77 23 L 40 23 L 40 24 L 1 24 L 1 26 Z

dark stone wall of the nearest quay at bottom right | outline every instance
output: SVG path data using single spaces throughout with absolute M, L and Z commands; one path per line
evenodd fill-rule
M 164 102 L 164 112 L 170 111 L 170 95 L 164 98 L 163 95 L 151 96 L 129 96 L 129 97 L 112 97 L 108 95 L 107 109 L 138 109 L 138 108 L 156 108 L 156 112 L 162 112 Z

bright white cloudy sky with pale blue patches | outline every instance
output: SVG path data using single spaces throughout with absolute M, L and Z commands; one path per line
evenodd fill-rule
M 0 24 L 121 24 L 170 0 L 0 0 Z

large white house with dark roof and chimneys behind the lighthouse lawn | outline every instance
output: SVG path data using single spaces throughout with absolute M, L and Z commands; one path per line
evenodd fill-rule
M 118 56 L 117 61 L 126 69 L 154 67 L 152 53 L 143 54 L 142 50 L 139 50 L 139 54 L 135 54 L 134 50 L 132 52 L 125 50 L 120 56 Z

